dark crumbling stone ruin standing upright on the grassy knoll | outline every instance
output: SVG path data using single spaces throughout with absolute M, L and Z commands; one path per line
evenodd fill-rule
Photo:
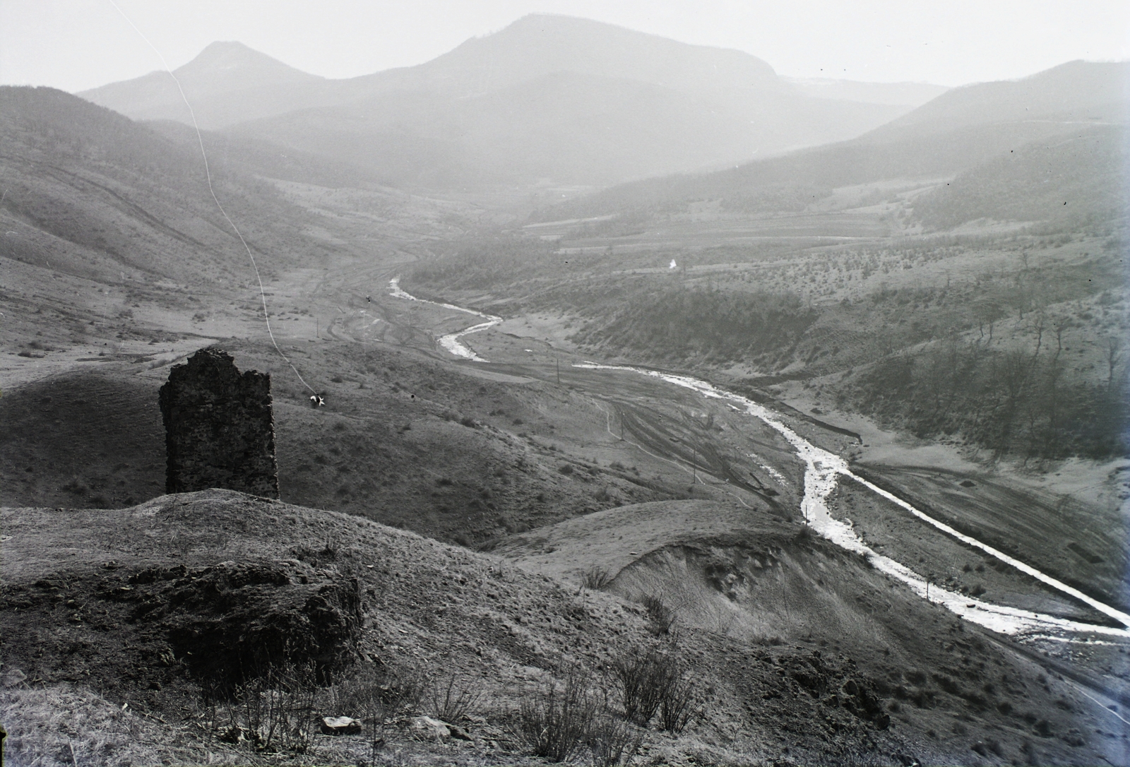
M 240 373 L 223 349 L 201 349 L 160 387 L 165 491 L 210 487 L 279 497 L 271 376 Z

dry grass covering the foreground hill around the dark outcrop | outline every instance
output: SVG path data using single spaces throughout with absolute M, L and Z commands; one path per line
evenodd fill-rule
M 401 757 L 403 764 L 520 764 L 533 759 L 523 751 L 542 750 L 532 744 L 523 748 L 524 739 L 513 737 L 520 718 L 516 709 L 528 691 L 542 691 L 540 699 L 529 700 L 527 714 L 533 724 L 540 721 L 547 726 L 553 717 L 575 720 L 563 709 L 583 713 L 589 707 L 579 699 L 584 697 L 580 686 L 574 689 L 574 700 L 568 701 L 563 672 L 557 673 L 555 699 L 549 705 L 544 699 L 546 674 L 538 669 L 546 666 L 541 664 L 554 663 L 562 669 L 576 663 L 591 674 L 598 669 L 610 670 L 615 660 L 626 657 L 633 647 L 660 644 L 694 666 L 696 690 L 677 690 L 687 695 L 673 696 L 667 716 L 660 703 L 660 709 L 649 717 L 649 730 L 629 722 L 626 730 L 614 727 L 600 734 L 609 697 L 614 717 L 623 714 L 618 690 L 609 689 L 610 696 L 601 696 L 601 688 L 610 688 L 611 680 L 594 680 L 586 686 L 596 712 L 584 738 L 577 735 L 580 740 L 572 746 L 565 742 L 572 737 L 558 739 L 563 748 L 572 749 L 574 758 L 588 760 L 592 751 L 601 764 L 624 761 L 632 742 L 642 733 L 649 759 L 661 757 L 667 762 L 686 762 L 703 743 L 712 744 L 709 760 L 713 762 L 750 764 L 788 757 L 809 764 L 843 764 L 845 753 L 864 748 L 872 761 L 890 761 L 893 755 L 904 750 L 898 742 L 902 735 L 894 729 L 875 730 L 871 718 L 838 705 L 827 692 L 841 690 L 850 679 L 862 690 L 876 689 L 897 697 L 903 695 L 897 688 L 905 686 L 913 688 L 906 695 L 915 694 L 922 686 L 905 683 L 897 677 L 902 669 L 938 669 L 955 680 L 964 679 L 964 659 L 970 657 L 988 668 L 1000 666 L 1000 673 L 1008 674 L 1008 683 L 994 680 L 996 692 L 976 692 L 993 707 L 974 712 L 965 721 L 967 737 L 947 735 L 931 748 L 915 750 L 915 757 L 962 764 L 955 755 L 968 757 L 966 741 L 979 738 L 988 742 L 993 737 L 1000 740 L 1006 758 L 1018 758 L 1024 733 L 1016 727 L 1031 729 L 1022 717 L 1032 712 L 1036 721 L 1051 722 L 1057 733 L 1055 738 L 1037 741 L 1041 764 L 1097 759 L 1090 744 L 1094 741 L 1075 747 L 1058 735 L 1069 737 L 1071 727 L 1090 732 L 1103 726 L 1105 732 L 1110 713 L 1092 712 L 1086 699 L 1054 679 L 1048 679 L 1051 694 L 1063 696 L 1071 711 L 1024 703 L 1012 688 L 1023 690 L 1023 682 L 1034 689 L 1031 665 L 1011 656 L 1003 646 L 975 642 L 976 637 L 959 630 L 951 617 L 922 600 L 892 590 L 881 574 L 862 567 L 858 557 L 841 554 L 819 539 L 798 546 L 793 541 L 796 525 L 771 522 L 765 518 L 767 513 L 758 518 L 749 509 L 704 502 L 675 503 L 666 512 L 655 506 L 628 507 L 615 515 L 598 513 L 542 531 L 550 546 L 564 544 L 563 556 L 583 555 L 585 541 L 590 542 L 592 559 L 579 555 L 557 564 L 546 563 L 546 555 L 540 555 L 551 570 L 570 575 L 591 566 L 618 565 L 615 557 L 605 556 L 612 554 L 603 549 L 606 544 L 615 541 L 631 547 L 624 559 L 637 559 L 634 565 L 629 560 L 627 567 L 618 567 L 620 575 L 612 587 L 625 591 L 623 596 L 591 591 L 579 594 L 572 577 L 568 582 L 555 581 L 531 573 L 530 567 L 446 547 L 415 533 L 229 491 L 169 496 L 122 511 L 5 509 L 0 521 L 5 534 L 11 538 L 3 541 L 3 575 L 6 599 L 12 605 L 0 611 L 5 663 L 46 685 L 37 690 L 14 689 L 0 711 L 12 733 L 9 753 L 15 764 L 73 767 L 128 761 L 150 765 L 163 759 L 174 764 L 259 764 L 266 759 L 290 764 L 394 764 Z M 712 512 L 714 518 L 710 518 Z M 745 518 L 744 529 L 738 526 L 739 514 Z M 617 521 L 621 524 L 614 524 Z M 660 524 L 652 525 L 645 537 L 638 528 L 647 521 Z M 591 525 L 588 534 L 576 529 L 577 522 Z M 186 555 L 173 556 L 168 541 L 174 531 L 177 539 L 199 539 L 199 546 L 193 543 Z M 223 551 L 208 548 L 212 540 L 208 535 L 217 531 L 228 537 Z M 709 546 L 688 546 L 703 534 L 709 535 Z M 191 704 L 191 697 L 179 697 L 191 690 L 176 681 L 176 666 L 163 664 L 175 659 L 150 665 L 145 659 L 159 659 L 159 653 L 131 654 L 131 647 L 142 645 L 145 637 L 121 612 L 128 605 L 101 596 L 118 592 L 97 585 L 127 584 L 130 573 L 155 564 L 183 563 L 197 568 L 214 565 L 219 557 L 289 559 L 296 543 L 305 541 L 321 551 L 327 541 L 333 540 L 348 541 L 348 546 L 338 548 L 334 560 L 327 566 L 358 577 L 370 621 L 359 650 L 373 663 L 363 666 L 368 670 L 356 679 L 351 674 L 357 669 L 336 677 L 334 688 L 320 692 L 314 721 L 320 716 L 353 716 L 365 720 L 364 732 L 340 738 L 315 732 L 311 748 L 302 755 L 260 753 L 249 742 L 240 747 L 224 743 L 215 731 L 209 738 L 207 729 L 200 726 L 207 724 L 207 712 L 180 705 Z M 155 549 L 155 541 L 166 548 Z M 657 551 L 657 546 L 663 548 Z M 551 554 L 558 556 L 557 551 Z M 61 560 L 67 563 L 66 572 L 60 570 Z M 731 575 L 741 577 L 732 579 Z M 43 585 L 36 585 L 40 581 Z M 740 586 L 732 590 L 733 598 L 719 590 L 728 589 L 731 581 Z M 685 587 L 680 590 L 679 584 Z M 638 594 L 662 594 L 666 604 L 677 605 L 678 633 L 658 640 L 649 631 L 646 611 L 633 599 Z M 75 611 L 67 608 L 68 599 L 85 605 L 81 622 L 67 620 Z M 712 627 L 716 622 L 714 613 L 707 610 L 699 616 L 696 605 L 709 607 L 711 601 L 722 604 L 727 615 L 748 616 L 734 629 L 736 636 L 704 629 L 703 617 L 711 618 Z M 27 607 L 15 609 L 25 603 Z M 883 610 L 888 603 L 892 609 Z M 60 607 L 67 609 L 60 611 Z M 768 628 L 782 639 L 755 645 L 744 637 L 744 631 Z M 895 630 L 912 638 L 895 642 Z M 918 636 L 925 640 L 918 642 Z M 936 637 L 945 637 L 947 644 L 938 643 Z M 818 661 L 814 645 L 824 650 L 827 660 Z M 75 652 L 72 647 L 77 646 L 89 650 Z M 154 645 L 150 650 L 162 647 Z M 847 657 L 858 660 L 859 668 Z M 407 666 L 407 679 L 397 674 L 394 685 L 388 674 L 389 666 L 409 662 L 416 669 L 427 669 L 433 679 L 442 679 L 444 687 L 458 678 L 473 680 L 484 690 L 483 716 L 472 715 L 460 723 L 473 742 L 419 739 L 412 720 L 416 714 L 429 712 L 425 707 L 409 711 L 399 700 L 415 698 L 418 703 L 418 692 L 426 697 L 427 686 L 423 680 L 416 683 Z M 62 686 L 61 680 L 87 670 L 90 687 L 104 697 Z M 666 677 L 689 679 L 686 671 L 687 666 L 683 666 L 677 674 Z M 889 682 L 881 688 L 868 680 L 888 677 Z M 164 688 L 154 692 L 150 679 L 159 680 Z M 798 687 L 800 680 L 815 683 L 822 691 L 810 695 L 807 688 Z M 451 686 L 457 699 L 460 683 Z M 445 689 L 440 692 L 446 697 Z M 940 732 L 954 712 L 967 708 L 959 692 L 972 692 L 968 685 L 963 682 L 957 692 L 937 689 L 931 704 L 935 707 L 903 705 L 893 718 L 906 730 Z M 124 700 L 130 701 L 124 712 L 110 703 L 120 706 Z M 1010 703 L 1012 713 L 1001 703 Z M 695 715 L 699 706 L 705 707 L 706 716 Z M 168 724 L 159 725 L 158 716 Z M 690 723 L 679 733 L 688 716 Z M 832 722 L 828 726 L 834 724 L 838 734 L 829 740 L 828 731 L 810 726 L 811 722 Z M 565 724 L 563 721 L 563 727 Z M 242 726 L 246 729 L 246 724 Z M 664 727 L 670 730 L 660 734 Z M 537 735 L 541 727 L 531 730 Z M 783 752 L 785 746 L 788 755 Z M 545 748 L 550 746 L 546 743 Z M 398 750 L 401 756 L 397 756 Z

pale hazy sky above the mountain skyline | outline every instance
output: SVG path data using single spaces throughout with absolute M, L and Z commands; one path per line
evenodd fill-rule
M 1130 58 L 1127 0 L 114 0 L 172 67 L 237 40 L 353 77 L 417 64 L 531 12 L 733 47 L 781 75 L 960 85 Z M 0 0 L 0 82 L 80 90 L 160 61 L 111 0 Z

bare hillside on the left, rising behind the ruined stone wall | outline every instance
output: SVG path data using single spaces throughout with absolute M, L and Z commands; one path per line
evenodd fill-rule
M 255 139 L 202 139 L 211 189 L 189 127 L 137 123 L 51 88 L 0 88 L 6 387 L 8 374 L 104 361 L 96 355 L 134 342 L 134 358 L 151 358 L 150 342 L 181 351 L 197 333 L 266 337 L 259 281 L 233 224 L 268 293 L 296 269 L 307 270 L 302 286 L 327 259 L 389 256 L 417 247 L 421 233 L 467 226 L 468 206 L 375 188 L 357 167 Z M 328 210 L 340 210 L 337 198 L 348 211 Z M 292 310 L 288 320 L 302 312 L 316 335 L 308 305 L 268 300 L 273 313 Z

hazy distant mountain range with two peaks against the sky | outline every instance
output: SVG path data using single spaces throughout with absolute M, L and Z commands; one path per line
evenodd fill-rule
M 523 17 L 415 67 L 342 80 L 237 43 L 209 46 L 176 75 L 201 128 L 315 154 L 324 146 L 383 178 L 449 190 L 608 185 L 720 167 L 844 140 L 909 108 L 817 98 L 741 51 L 553 15 Z M 192 122 L 172 78 L 160 77 L 79 95 L 134 119 Z M 568 78 L 568 87 L 538 87 Z

